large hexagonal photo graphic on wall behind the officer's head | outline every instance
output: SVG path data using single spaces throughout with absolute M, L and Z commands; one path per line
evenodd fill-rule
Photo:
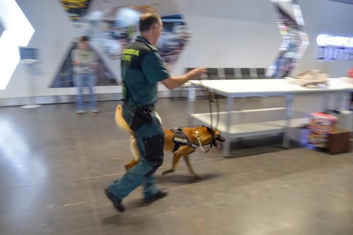
M 89 26 L 84 32 L 111 59 L 119 60 L 124 50 L 139 35 L 139 18 L 146 12 L 155 12 L 151 6 L 115 7 L 103 12 L 94 11 L 83 19 Z M 162 16 L 163 32 L 157 47 L 167 66 L 177 62 L 189 41 L 190 32 L 184 17 Z

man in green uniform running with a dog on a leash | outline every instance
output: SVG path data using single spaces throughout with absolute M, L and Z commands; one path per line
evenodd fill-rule
M 141 36 L 123 50 L 121 77 L 125 100 L 123 117 L 134 130 L 143 157 L 134 168 L 105 189 L 119 212 L 124 212 L 121 200 L 142 183 L 146 203 L 167 195 L 165 190 L 158 189 L 152 176 L 162 165 L 164 157 L 164 132 L 154 111 L 157 83 L 162 82 L 171 90 L 207 72 L 206 68 L 195 68 L 183 76 L 171 77 L 155 46 L 163 30 L 160 16 L 157 13 L 143 14 L 139 28 Z

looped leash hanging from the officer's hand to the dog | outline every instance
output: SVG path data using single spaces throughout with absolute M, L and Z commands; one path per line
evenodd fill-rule
M 210 119 L 211 119 L 211 135 L 212 135 L 212 140 L 211 140 L 211 144 L 210 144 L 210 148 L 208 150 L 205 150 L 203 148 L 203 146 L 201 145 L 201 139 L 199 137 L 199 132 L 196 131 L 196 138 L 197 138 L 197 142 L 199 144 L 199 148 L 201 151 L 203 151 L 204 153 L 208 153 L 210 151 L 212 151 L 212 146 L 213 146 L 213 142 L 214 142 L 214 131 L 213 129 L 217 129 L 218 125 L 219 125 L 219 101 L 216 98 L 216 94 L 214 92 L 212 92 L 208 87 L 206 87 L 204 84 L 201 83 L 201 80 L 198 80 L 199 85 L 201 87 L 201 89 L 204 89 L 206 94 L 207 94 L 207 98 L 208 98 L 208 103 L 209 103 L 209 109 L 210 109 Z M 216 103 L 216 112 L 217 112 L 217 124 L 215 127 L 213 127 L 213 111 L 212 111 L 212 103 Z

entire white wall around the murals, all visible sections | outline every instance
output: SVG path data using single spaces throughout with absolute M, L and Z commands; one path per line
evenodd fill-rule
M 157 8 L 160 11 L 173 9 L 170 12 L 177 9 L 177 12 L 183 13 L 192 32 L 191 41 L 174 69 L 175 75 L 181 74 L 184 67 L 268 67 L 278 53 L 281 37 L 276 25 L 275 11 L 269 0 L 174 0 L 175 9 L 174 6 L 166 7 L 167 1 L 170 0 L 159 1 L 163 5 Z M 35 95 L 74 94 L 74 88 L 48 88 L 67 55 L 68 42 L 73 35 L 71 22 L 60 2 L 16 2 L 36 30 L 29 44 L 40 50 L 41 62 L 35 69 Z M 111 1 L 113 2 L 119 1 Z M 156 1 L 135 0 L 134 4 L 140 2 L 151 4 Z M 345 75 L 353 62 L 316 61 L 315 39 L 321 33 L 353 36 L 353 5 L 328 0 L 300 0 L 299 4 L 311 44 L 295 72 L 314 68 L 323 70 L 332 77 Z M 110 64 L 117 77 L 118 66 L 117 62 Z M 7 88 L 0 90 L 0 98 L 26 97 L 27 79 L 26 66 L 19 64 Z M 120 92 L 120 87 L 97 87 L 96 91 Z

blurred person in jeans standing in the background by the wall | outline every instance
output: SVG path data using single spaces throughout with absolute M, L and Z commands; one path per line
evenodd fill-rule
M 79 42 L 79 48 L 71 52 L 71 60 L 73 64 L 73 84 L 79 88 L 77 95 L 77 115 L 85 114 L 83 88 L 89 89 L 90 114 L 96 115 L 97 104 L 93 92 L 93 86 L 96 82 L 95 69 L 97 67 L 94 52 L 89 47 L 89 39 L 82 36 Z

